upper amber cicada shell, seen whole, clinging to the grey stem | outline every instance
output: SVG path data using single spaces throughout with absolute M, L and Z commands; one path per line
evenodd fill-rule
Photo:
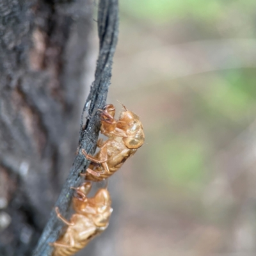
M 92 163 L 86 170 L 87 180 L 100 181 L 107 179 L 118 170 L 127 158 L 132 156 L 144 141 L 143 126 L 140 118 L 124 106 L 124 111 L 118 120 L 115 120 L 115 106 L 109 104 L 100 111 L 102 125 L 100 131 L 108 136 L 108 140 L 99 140 L 97 147 L 100 148 L 95 156 L 82 153 Z

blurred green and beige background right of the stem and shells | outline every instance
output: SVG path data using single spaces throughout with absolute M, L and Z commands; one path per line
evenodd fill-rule
M 120 1 L 109 101 L 146 141 L 119 173 L 118 255 L 255 255 L 255 24 L 255 0 Z

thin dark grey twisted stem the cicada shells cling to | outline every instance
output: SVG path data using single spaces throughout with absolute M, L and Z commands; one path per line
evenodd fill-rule
M 99 115 L 97 115 L 97 110 L 102 109 L 106 105 L 108 95 L 113 55 L 118 38 L 118 0 L 99 1 L 97 24 L 100 47 L 95 70 L 95 81 L 91 86 L 90 93 L 84 104 L 77 156 L 70 169 L 68 179 L 55 204 L 55 206 L 60 209 L 60 212 L 64 214 L 64 217 L 67 217 L 68 207 L 74 192 L 70 187 L 76 188 L 79 186 L 81 180 L 83 180 L 79 174 L 83 172 L 90 163 L 90 161 L 83 156 L 81 151 L 85 150 L 89 154 L 94 154 L 99 137 L 100 118 Z M 88 108 L 88 115 L 86 116 L 85 124 L 83 124 L 83 115 L 86 108 Z M 62 227 L 63 221 L 60 221 L 56 216 L 56 212 L 52 210 L 51 218 L 44 228 L 44 232 L 33 252 L 33 256 L 50 256 L 53 248 L 49 243 L 58 239 Z M 109 241 L 111 241 L 111 239 L 112 236 L 109 236 Z M 102 247 L 102 252 L 103 251 L 104 247 Z M 113 253 L 110 252 L 109 255 L 113 255 Z

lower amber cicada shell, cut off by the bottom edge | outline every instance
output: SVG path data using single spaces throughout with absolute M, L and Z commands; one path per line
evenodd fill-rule
M 58 207 L 56 214 L 68 227 L 58 241 L 52 243 L 52 256 L 70 256 L 84 248 L 95 236 L 103 232 L 109 223 L 113 209 L 107 189 L 99 189 L 95 196 L 87 198 L 91 189 L 90 182 L 84 182 L 76 190 L 73 208 L 76 212 L 70 221 L 61 216 Z

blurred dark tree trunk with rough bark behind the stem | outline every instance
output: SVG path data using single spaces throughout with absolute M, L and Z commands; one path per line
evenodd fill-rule
M 35 248 L 75 157 L 92 4 L 6 0 L 0 12 L 0 255 L 22 256 Z M 81 162 L 82 170 L 88 163 Z M 77 170 L 72 185 L 79 183 Z M 71 193 L 62 210 L 70 198 Z M 60 229 L 58 223 L 55 237 Z M 96 251 L 91 246 L 89 255 Z

